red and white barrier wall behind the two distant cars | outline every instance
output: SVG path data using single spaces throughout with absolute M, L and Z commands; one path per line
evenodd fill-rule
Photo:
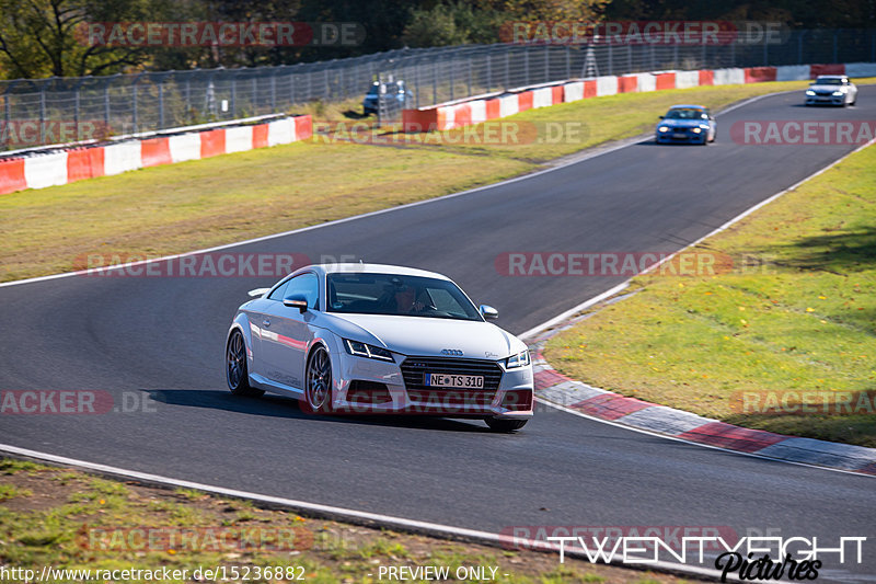
M 405 131 L 452 129 L 487 119 L 498 119 L 534 107 L 546 107 L 588 98 L 618 93 L 641 93 L 664 89 L 688 89 L 701 85 L 730 85 L 761 81 L 815 79 L 819 75 L 876 76 L 876 64 L 792 65 L 782 67 L 746 67 L 702 69 L 699 71 L 658 71 L 626 76 L 602 76 L 593 79 L 561 82 L 550 87 L 521 88 L 507 95 L 474 99 L 464 102 L 405 110 Z M 475 115 L 475 112 L 477 115 Z

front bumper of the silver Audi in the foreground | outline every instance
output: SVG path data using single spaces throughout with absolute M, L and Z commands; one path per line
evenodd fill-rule
M 406 357 L 437 359 L 437 357 Z M 430 373 L 453 373 L 452 359 L 443 366 L 429 366 Z M 471 362 L 474 359 L 463 359 Z M 417 373 L 403 363 L 388 363 L 344 354 L 333 355 L 334 401 L 338 414 L 404 414 L 442 417 L 530 417 L 534 406 L 532 366 L 505 368 L 500 362 L 483 360 L 500 370 L 497 386 L 483 389 L 426 388 L 417 385 Z M 426 370 L 426 369 L 424 369 Z M 414 376 L 414 377 L 412 377 Z

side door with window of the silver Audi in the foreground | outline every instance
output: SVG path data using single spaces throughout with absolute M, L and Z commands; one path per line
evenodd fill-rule
M 320 306 L 319 289 L 319 277 L 308 272 L 290 278 L 268 296 L 262 319 L 262 356 L 269 381 L 295 389 L 304 387 L 304 358 L 313 341 L 310 322 Z M 308 301 L 307 311 L 283 304 L 296 296 Z

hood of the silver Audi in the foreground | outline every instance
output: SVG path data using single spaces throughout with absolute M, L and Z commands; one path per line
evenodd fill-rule
M 440 356 L 442 350 L 462 351 L 462 357 L 500 359 L 526 350 L 526 344 L 493 323 L 483 321 L 333 314 L 336 333 L 383 346 L 404 355 Z

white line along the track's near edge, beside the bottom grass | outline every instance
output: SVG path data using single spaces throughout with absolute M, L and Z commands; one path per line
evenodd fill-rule
M 450 525 L 442 525 L 429 522 L 418 522 L 414 519 L 405 519 L 404 517 L 395 517 L 392 515 L 382 515 L 380 513 L 369 513 L 365 511 L 356 511 L 349 509 L 345 507 L 335 507 L 332 505 L 320 505 L 319 503 L 308 503 L 306 501 L 297 501 L 293 499 L 285 499 L 280 496 L 272 496 L 272 495 L 263 495 L 258 493 L 251 493 L 249 491 L 240 491 L 237 489 L 226 489 L 224 486 L 214 486 L 210 484 L 204 484 L 198 482 L 192 481 L 183 481 L 180 479 L 171 479 L 169 477 L 162 477 L 160 474 L 150 474 L 148 472 L 139 472 L 136 470 L 128 470 L 123 469 L 119 467 L 111 467 L 107 465 L 99 465 L 96 462 L 88 462 L 85 460 L 79 460 L 76 458 L 67 458 L 64 456 L 50 455 L 47 453 L 39 453 L 37 450 L 30 450 L 27 448 L 19 448 L 18 446 L 12 446 L 9 444 L 0 444 L 0 453 L 7 453 L 20 457 L 32 458 L 36 460 L 43 460 L 46 462 L 53 462 L 56 465 L 64 465 L 67 467 L 74 467 L 81 468 L 85 470 L 91 470 L 94 472 L 114 476 L 114 477 L 124 477 L 127 479 L 135 479 L 142 481 L 145 483 L 152 483 L 152 484 L 161 484 L 164 486 L 176 486 L 176 488 L 184 488 L 184 489 L 195 489 L 197 491 L 203 491 L 205 493 L 212 493 L 217 495 L 224 495 L 231 496 L 234 499 L 246 499 L 250 501 L 257 501 L 261 503 L 267 503 L 270 505 L 280 505 L 284 507 L 288 507 L 295 511 L 304 511 L 310 512 L 313 514 L 318 514 L 322 517 L 332 518 L 332 519 L 346 519 L 346 520 L 367 520 L 369 523 L 377 522 L 382 526 L 394 527 L 399 529 L 403 529 L 405 531 L 413 531 L 419 534 L 433 534 L 439 536 L 451 536 L 454 539 L 464 539 L 470 541 L 476 541 L 486 543 L 493 547 L 502 547 L 503 538 L 498 534 L 491 534 L 488 531 L 479 531 L 476 529 L 465 529 L 462 527 L 453 527 Z M 555 552 L 558 551 L 558 547 L 554 545 L 549 545 L 546 542 L 541 541 L 527 541 L 527 545 L 531 545 L 537 549 L 542 551 L 550 551 Z M 576 553 L 569 553 L 566 551 L 567 556 L 570 557 L 578 557 Z M 612 565 L 620 565 L 625 566 L 627 569 L 635 569 L 636 566 L 627 566 L 622 563 L 612 563 Z M 712 570 L 707 568 L 700 568 L 700 566 L 691 566 L 684 564 L 677 564 L 672 562 L 664 562 L 657 561 L 653 563 L 648 563 L 647 566 L 656 568 L 658 570 L 667 571 L 667 572 L 681 572 L 685 574 L 692 575 L 703 575 L 711 579 L 716 579 L 721 576 L 721 572 L 717 570 Z

